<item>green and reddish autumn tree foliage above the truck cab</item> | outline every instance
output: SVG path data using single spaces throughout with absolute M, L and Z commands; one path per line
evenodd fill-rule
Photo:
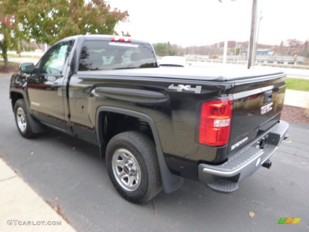
M 9 34 L 49 45 L 78 34 L 117 34 L 115 26 L 129 16 L 127 11 L 112 9 L 104 0 L 3 0 L 0 11 L 16 25 Z M 4 34 L 2 26 L 0 34 Z M 2 49 L 2 54 L 6 50 Z

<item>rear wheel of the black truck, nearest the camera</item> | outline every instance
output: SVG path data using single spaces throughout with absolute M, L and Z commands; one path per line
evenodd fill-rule
M 107 145 L 106 165 L 114 187 L 128 201 L 146 202 L 162 189 L 155 143 L 141 132 L 115 135 Z

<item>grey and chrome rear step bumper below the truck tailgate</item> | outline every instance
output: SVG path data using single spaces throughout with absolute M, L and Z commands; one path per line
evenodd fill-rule
M 259 137 L 221 165 L 198 165 L 200 182 L 214 191 L 222 193 L 235 191 L 238 183 L 256 172 L 277 150 L 282 141 L 288 138 L 288 128 L 287 122 L 280 121 L 260 136 L 267 136 L 264 148 L 255 147 L 256 142 L 260 140 Z

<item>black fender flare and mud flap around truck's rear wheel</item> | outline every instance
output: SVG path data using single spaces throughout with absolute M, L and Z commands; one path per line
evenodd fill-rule
M 162 179 L 162 184 L 163 184 L 163 190 L 166 193 L 171 193 L 173 191 L 176 191 L 182 186 L 182 184 L 184 183 L 184 178 L 172 174 L 171 171 L 167 167 L 167 164 L 164 159 L 161 143 L 160 143 L 159 133 L 155 126 L 155 122 L 152 120 L 152 118 L 149 115 L 143 114 L 137 111 L 117 108 L 113 106 L 99 106 L 96 112 L 96 117 L 95 117 L 96 118 L 95 127 L 97 129 L 102 128 L 103 119 L 99 117 L 101 112 L 113 112 L 113 113 L 118 113 L 118 114 L 125 114 L 125 115 L 129 115 L 132 117 L 141 118 L 145 120 L 150 125 L 152 134 L 155 139 L 156 151 L 157 151 L 159 167 L 160 167 L 160 172 L 161 172 L 161 179 Z M 105 153 L 104 147 L 106 146 L 104 144 L 102 133 L 100 133 L 99 130 L 96 130 L 96 134 L 97 134 L 98 143 L 100 144 L 99 145 L 100 153 L 102 156 L 102 154 Z

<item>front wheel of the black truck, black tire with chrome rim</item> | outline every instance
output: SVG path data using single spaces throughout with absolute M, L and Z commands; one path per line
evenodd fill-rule
M 25 138 L 32 138 L 34 133 L 29 122 L 27 107 L 23 99 L 18 99 L 14 105 L 14 117 L 19 133 Z

